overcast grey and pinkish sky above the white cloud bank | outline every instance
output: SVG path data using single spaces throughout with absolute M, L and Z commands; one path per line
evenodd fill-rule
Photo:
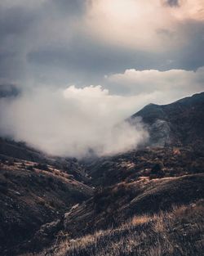
M 0 34 L 2 83 L 106 87 L 129 69 L 204 65 L 202 0 L 2 0 Z

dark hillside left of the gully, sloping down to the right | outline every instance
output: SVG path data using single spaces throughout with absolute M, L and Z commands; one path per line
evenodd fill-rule
M 42 224 L 88 199 L 93 189 L 79 181 L 86 177 L 76 161 L 54 161 L 13 141 L 1 139 L 0 145 L 1 153 L 20 157 L 0 155 L 0 251 L 15 255 Z M 73 170 L 56 167 L 64 163 Z

